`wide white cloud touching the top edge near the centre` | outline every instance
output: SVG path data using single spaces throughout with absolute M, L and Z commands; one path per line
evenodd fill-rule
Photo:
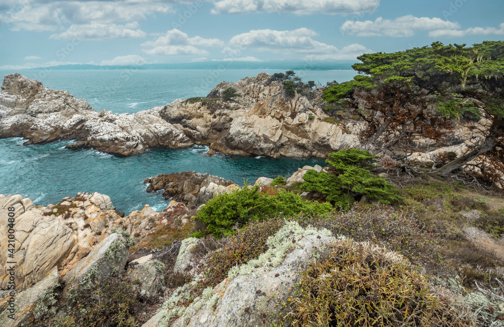
M 373 13 L 380 0 L 218 0 L 212 14 L 294 13 L 307 15 Z

